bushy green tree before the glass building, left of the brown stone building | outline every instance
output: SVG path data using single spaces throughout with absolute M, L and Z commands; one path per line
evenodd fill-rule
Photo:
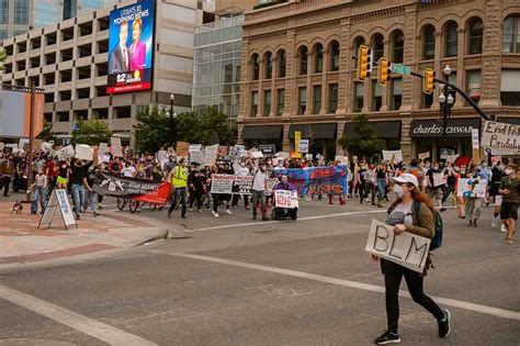
M 178 121 L 178 141 L 204 145 L 235 143 L 236 135 L 229 126 L 229 118 L 216 107 L 179 114 Z

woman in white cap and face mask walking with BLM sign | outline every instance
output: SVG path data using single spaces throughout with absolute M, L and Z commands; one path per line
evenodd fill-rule
M 386 224 L 394 226 L 396 236 L 403 232 L 409 232 L 427 238 L 434 235 L 434 209 L 431 200 L 419 191 L 419 181 L 411 174 L 403 174 L 392 179 L 394 181 L 394 193 L 397 199 L 388 209 Z M 420 202 L 417 215 L 414 213 L 414 203 Z M 372 255 L 373 260 L 380 260 Z M 399 301 L 398 293 L 400 281 L 405 277 L 408 291 L 414 301 L 430 312 L 439 324 L 439 337 L 446 337 L 450 333 L 451 314 L 423 292 L 423 279 L 427 274 L 430 259 L 427 259 L 425 271 L 419 274 L 393 261 L 381 258 L 381 269 L 385 277 L 385 301 L 387 330 L 375 339 L 375 344 L 396 344 L 400 342 L 398 334 Z

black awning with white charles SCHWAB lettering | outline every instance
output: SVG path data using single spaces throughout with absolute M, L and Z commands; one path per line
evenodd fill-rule
M 471 137 L 473 129 L 481 129 L 479 118 L 449 119 L 446 137 Z M 412 120 L 410 137 L 439 138 L 442 137 L 442 120 Z

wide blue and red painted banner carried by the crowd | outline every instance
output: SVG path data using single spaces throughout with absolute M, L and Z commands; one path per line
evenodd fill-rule
M 274 175 L 287 176 L 298 196 L 308 194 L 327 194 L 327 193 L 348 193 L 348 175 L 347 166 L 328 166 L 328 167 L 310 167 L 297 169 L 279 169 Z

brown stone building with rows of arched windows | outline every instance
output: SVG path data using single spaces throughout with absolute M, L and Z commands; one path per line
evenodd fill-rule
M 301 0 L 246 13 L 239 142 L 289 152 L 299 131 L 313 153 L 330 158 L 364 113 L 405 160 L 426 152 L 471 156 L 471 130 L 482 125 L 476 111 L 456 97 L 443 139 L 439 88 L 428 96 L 421 78 L 396 74 L 381 87 L 376 67 L 358 82 L 352 56 L 361 44 L 375 62 L 387 57 L 418 72 L 432 68 L 439 77 L 449 65 L 444 78 L 488 114 L 520 122 L 518 1 Z

